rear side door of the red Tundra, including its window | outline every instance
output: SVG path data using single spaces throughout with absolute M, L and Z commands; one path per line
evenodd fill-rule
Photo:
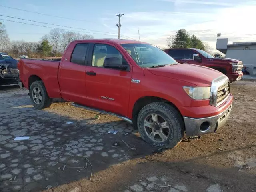
M 63 56 L 60 66 L 59 84 L 62 98 L 68 101 L 86 104 L 86 64 L 85 58 L 89 44 L 78 43 L 70 45 L 70 58 Z M 70 47 L 69 47 L 70 48 Z M 68 50 L 69 51 L 69 50 Z

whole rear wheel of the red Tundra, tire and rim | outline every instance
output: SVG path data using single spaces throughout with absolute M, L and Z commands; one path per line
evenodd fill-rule
M 34 107 L 37 109 L 47 108 L 52 104 L 52 98 L 48 96 L 42 81 L 33 82 L 30 86 L 29 94 Z

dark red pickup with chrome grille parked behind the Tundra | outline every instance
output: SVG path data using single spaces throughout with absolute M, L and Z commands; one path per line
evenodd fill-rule
M 179 63 L 190 63 L 216 69 L 226 76 L 230 82 L 242 78 L 243 62 L 236 59 L 217 58 L 200 49 L 174 48 L 164 50 Z

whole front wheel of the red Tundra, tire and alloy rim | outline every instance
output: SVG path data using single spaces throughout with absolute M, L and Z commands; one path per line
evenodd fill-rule
M 144 106 L 139 112 L 137 125 L 143 140 L 164 148 L 176 147 L 184 135 L 181 115 L 164 102 Z

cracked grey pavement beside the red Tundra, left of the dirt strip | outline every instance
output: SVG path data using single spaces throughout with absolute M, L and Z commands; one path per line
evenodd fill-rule
M 38 191 L 48 185 L 90 179 L 92 167 L 94 174 L 157 149 L 124 121 L 61 102 L 36 110 L 25 91 L 1 93 L 1 191 Z M 108 133 L 115 130 L 117 134 Z M 22 136 L 30 138 L 14 140 Z

